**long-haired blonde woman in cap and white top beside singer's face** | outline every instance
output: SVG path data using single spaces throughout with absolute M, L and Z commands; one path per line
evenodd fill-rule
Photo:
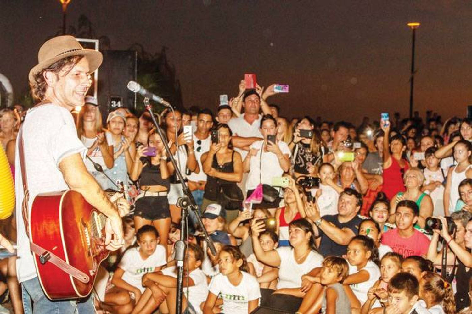
M 77 136 L 88 149 L 87 156 L 93 162 L 101 165 L 103 170 L 113 168 L 113 138 L 111 133 L 107 132 L 105 135 L 105 132 L 103 132 L 100 108 L 98 107 L 97 99 L 91 96 L 85 97 L 85 105 L 80 109 Z M 89 158 L 84 160 L 87 170 L 93 175 L 100 186 L 106 189 L 109 180 L 104 174 L 94 168 Z

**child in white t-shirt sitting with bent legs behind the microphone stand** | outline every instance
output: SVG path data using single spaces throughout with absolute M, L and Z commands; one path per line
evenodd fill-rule
M 200 304 L 205 302 L 208 296 L 207 277 L 200 269 L 202 260 L 202 248 L 188 243 L 184 262 L 182 313 L 202 314 Z M 161 304 L 158 301 L 162 301 L 161 312 L 176 313 L 177 267 L 168 267 L 157 273 L 146 273 L 143 276 L 143 285 L 146 290 L 132 314 L 151 314 Z

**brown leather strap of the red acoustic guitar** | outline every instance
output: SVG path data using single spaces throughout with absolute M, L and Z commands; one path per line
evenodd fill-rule
M 41 106 L 49 102 L 43 101 L 42 103 L 36 105 L 35 107 Z M 20 160 L 20 169 L 21 169 L 21 179 L 23 182 L 23 191 L 24 197 L 22 202 L 22 214 L 23 214 L 23 222 L 25 224 L 26 235 L 30 239 L 30 248 L 31 251 L 40 257 L 41 263 L 45 264 L 46 262 L 51 262 L 52 264 L 59 267 L 60 270 L 63 272 L 71 275 L 72 277 L 76 278 L 78 281 L 83 283 L 88 283 L 90 281 L 90 277 L 85 274 L 84 272 L 78 270 L 74 266 L 67 264 L 63 259 L 59 256 L 55 255 L 51 251 L 48 251 L 31 241 L 30 233 L 29 233 L 29 211 L 28 211 L 28 200 L 29 200 L 29 191 L 28 191 L 28 182 L 26 177 L 26 164 L 25 164 L 25 148 L 23 145 L 23 125 L 20 127 L 18 132 L 18 157 Z M 44 260 L 44 263 L 43 263 Z

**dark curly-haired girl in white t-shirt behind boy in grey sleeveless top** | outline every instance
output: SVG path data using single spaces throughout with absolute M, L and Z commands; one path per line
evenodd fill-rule
M 379 252 L 367 236 L 355 236 L 347 246 L 349 276 L 343 282 L 350 285 L 361 305 L 367 301 L 367 292 L 380 277 Z

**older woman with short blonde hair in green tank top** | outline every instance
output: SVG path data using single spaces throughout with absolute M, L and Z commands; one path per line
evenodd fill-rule
M 433 215 L 433 201 L 428 194 L 421 191 L 424 180 L 424 174 L 419 168 L 410 168 L 405 172 L 403 182 L 405 182 L 406 191 L 396 193 L 391 199 L 390 215 L 388 218 L 389 223 L 395 223 L 396 204 L 401 200 L 409 199 L 415 202 L 420 208 L 420 215 L 418 216 L 416 224 L 421 228 L 424 228 L 426 218 Z

